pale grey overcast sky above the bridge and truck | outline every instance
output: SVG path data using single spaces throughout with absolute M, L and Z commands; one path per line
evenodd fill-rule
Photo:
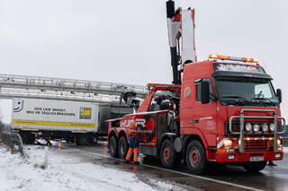
M 0 0 L 3 74 L 144 85 L 171 82 L 165 0 Z M 257 57 L 284 94 L 287 0 L 179 0 L 195 8 L 198 60 Z M 7 101 L 2 116 L 9 120 Z M 0 106 L 1 106 L 0 105 Z

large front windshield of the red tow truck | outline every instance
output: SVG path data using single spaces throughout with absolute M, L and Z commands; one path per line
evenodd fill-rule
M 219 76 L 215 85 L 222 105 L 278 106 L 268 79 Z

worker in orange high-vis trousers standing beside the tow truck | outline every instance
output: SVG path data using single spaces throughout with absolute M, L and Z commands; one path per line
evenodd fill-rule
M 130 144 L 129 144 L 129 150 L 126 155 L 126 162 L 130 162 L 130 158 L 133 153 L 133 161 L 138 164 L 139 143 L 137 141 L 135 124 L 133 124 L 129 130 L 129 143 Z

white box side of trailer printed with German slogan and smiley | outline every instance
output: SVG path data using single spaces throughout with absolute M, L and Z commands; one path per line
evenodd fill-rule
M 14 99 L 15 129 L 96 132 L 98 105 L 68 100 Z

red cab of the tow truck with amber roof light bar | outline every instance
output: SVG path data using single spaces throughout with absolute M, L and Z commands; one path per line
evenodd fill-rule
M 184 66 L 180 131 L 198 135 L 205 151 L 203 156 L 191 152 L 190 167 L 205 157 L 257 171 L 266 161 L 282 160 L 281 90 L 275 92 L 271 76 L 256 59 L 210 58 Z

